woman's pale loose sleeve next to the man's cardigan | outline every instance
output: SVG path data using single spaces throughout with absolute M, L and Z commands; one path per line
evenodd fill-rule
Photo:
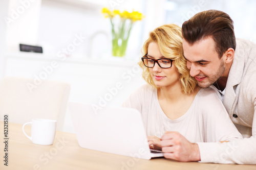
M 231 141 L 242 138 L 214 90 L 205 89 L 200 100 L 200 103 L 203 103 L 205 142 Z

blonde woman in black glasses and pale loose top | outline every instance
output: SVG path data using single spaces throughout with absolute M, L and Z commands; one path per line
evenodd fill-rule
M 242 138 L 215 91 L 201 89 L 190 77 L 180 27 L 156 28 L 143 50 L 145 55 L 139 65 L 148 84 L 137 89 L 123 107 L 141 112 L 152 147 L 161 149 L 160 137 L 165 131 L 177 131 L 190 142 Z

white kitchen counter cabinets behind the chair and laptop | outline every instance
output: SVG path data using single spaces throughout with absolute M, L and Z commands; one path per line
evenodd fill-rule
M 68 82 L 70 101 L 99 106 L 121 106 L 134 90 L 145 84 L 137 62 L 120 58 L 61 61 L 40 54 L 10 54 L 5 58 L 4 76 Z M 69 112 L 64 131 L 74 132 Z

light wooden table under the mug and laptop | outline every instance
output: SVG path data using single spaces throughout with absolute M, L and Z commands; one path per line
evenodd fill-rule
M 4 165 L 4 125 L 0 122 L 0 169 L 256 169 L 256 165 L 176 162 L 165 158 L 136 159 L 80 148 L 76 135 L 56 132 L 53 145 L 33 144 L 22 132 L 22 125 L 8 125 L 8 166 Z M 30 126 L 25 131 L 30 134 Z

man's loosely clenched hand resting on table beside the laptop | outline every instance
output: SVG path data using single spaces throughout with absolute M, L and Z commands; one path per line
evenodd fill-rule
M 164 157 L 180 162 L 200 161 L 200 152 L 196 143 L 190 143 L 179 132 L 165 132 L 161 137 Z

